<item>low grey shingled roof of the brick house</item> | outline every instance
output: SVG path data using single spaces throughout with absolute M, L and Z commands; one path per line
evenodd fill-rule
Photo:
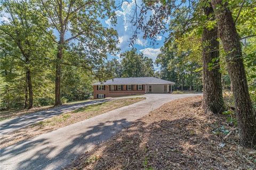
M 124 84 L 175 84 L 167 80 L 155 77 L 128 77 L 128 78 L 114 78 L 106 82 L 97 82 L 92 85 L 124 85 Z

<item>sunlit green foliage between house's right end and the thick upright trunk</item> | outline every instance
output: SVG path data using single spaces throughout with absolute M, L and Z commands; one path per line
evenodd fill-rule
M 187 90 L 193 90 L 194 87 L 194 90 L 201 91 L 202 64 L 198 47 L 196 46 L 193 51 L 189 43 L 185 43 L 188 39 L 189 36 L 181 37 L 179 40 L 170 39 L 161 48 L 156 64 L 161 66 L 161 78 L 175 82 L 174 89 L 184 90 L 183 87 L 187 86 Z M 198 43 L 199 38 L 195 38 L 194 41 Z

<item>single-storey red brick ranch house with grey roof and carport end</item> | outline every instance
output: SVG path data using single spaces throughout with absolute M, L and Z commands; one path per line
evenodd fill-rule
M 93 85 L 93 98 L 101 99 L 145 93 L 171 93 L 174 82 L 155 77 L 114 78 Z

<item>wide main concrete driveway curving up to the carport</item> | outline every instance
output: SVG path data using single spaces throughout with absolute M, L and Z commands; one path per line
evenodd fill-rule
M 1 149 L 0 169 L 62 169 L 151 110 L 194 95 L 198 94 L 145 94 L 146 100 Z

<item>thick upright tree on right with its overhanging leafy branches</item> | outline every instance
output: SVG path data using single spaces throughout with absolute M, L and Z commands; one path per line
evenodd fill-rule
M 135 30 L 133 38 L 137 38 L 135 34 L 139 33 L 139 30 L 142 30 L 144 33 L 144 38 L 151 38 L 155 39 L 158 34 L 165 34 L 169 32 L 169 38 L 179 39 L 178 37 L 182 37 L 186 32 L 189 32 L 193 29 L 202 30 L 202 27 L 206 23 L 210 23 L 207 19 L 212 18 L 210 13 L 206 13 L 209 16 L 202 15 L 202 6 L 207 8 L 205 5 L 209 5 L 207 1 L 203 1 L 204 3 L 198 3 L 198 1 L 143 1 L 142 5 L 139 7 L 140 14 L 134 14 L 135 16 L 131 19 L 131 22 L 137 26 Z M 209 7 L 207 9 L 210 9 Z M 154 13 L 148 14 L 149 11 L 153 11 Z M 137 13 L 137 10 L 134 10 Z M 205 12 L 209 12 L 209 10 L 205 10 Z M 149 16 L 148 16 L 149 15 Z M 139 16 L 139 17 L 137 17 Z M 149 18 L 149 19 L 148 19 Z M 168 21 L 168 25 L 166 25 L 166 21 Z M 169 28 L 168 28 L 169 26 Z M 216 30 L 216 29 L 215 29 Z M 207 29 L 204 29 L 203 38 L 204 44 L 202 47 L 204 48 L 203 52 L 203 67 L 204 67 L 204 101 L 203 101 L 203 108 L 205 110 L 212 111 L 214 113 L 218 113 L 223 110 L 223 98 L 222 98 L 222 91 L 221 91 L 221 74 L 218 71 L 219 69 L 219 60 L 214 60 L 214 64 L 216 67 L 209 70 L 207 67 L 213 58 L 218 58 L 218 42 L 216 41 L 217 36 L 213 39 L 211 35 L 206 38 Z M 211 31 L 214 35 L 217 35 L 214 29 Z M 207 43 L 206 43 L 207 42 Z M 210 44 L 209 44 L 210 43 Z M 215 44 L 212 44 L 215 43 Z M 215 47 L 214 47 L 215 45 Z M 212 49 L 211 49 L 212 48 Z M 213 50 L 214 51 L 211 51 Z M 207 49 L 207 50 L 206 50 Z M 215 51 L 217 50 L 217 51 Z M 207 53 L 206 53 L 207 51 Z M 182 76 L 182 81 L 184 82 L 185 79 L 183 76 L 185 74 L 180 74 Z M 206 81 L 207 78 L 210 78 L 211 81 L 208 83 Z M 191 80 L 190 80 L 191 82 Z M 184 82 L 185 83 L 185 82 Z M 182 84 L 184 84 L 182 83 Z M 211 83 L 211 85 L 209 85 Z M 211 101 L 214 99 L 214 102 Z

